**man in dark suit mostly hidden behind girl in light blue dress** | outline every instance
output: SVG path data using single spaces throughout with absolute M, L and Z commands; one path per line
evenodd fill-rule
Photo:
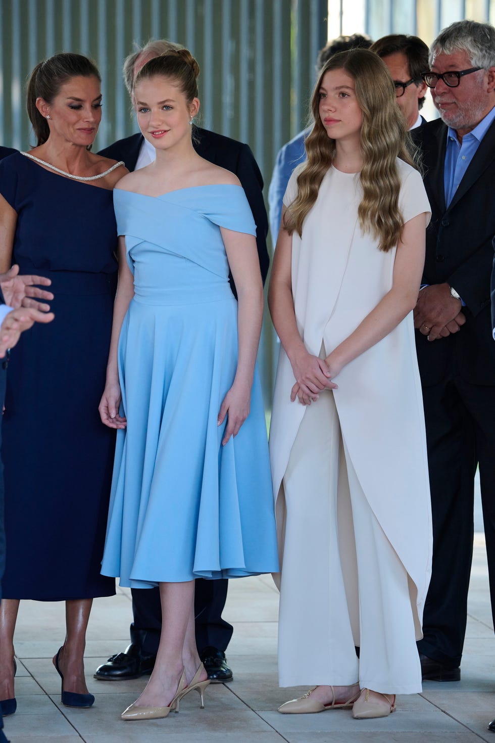
M 148 42 L 142 49 L 130 54 L 124 63 L 124 80 L 132 100 L 134 77 L 149 59 L 171 49 L 180 48 L 165 40 Z M 266 249 L 268 220 L 263 202 L 263 178 L 249 146 L 194 126 L 194 149 L 202 158 L 232 171 L 246 192 L 256 223 L 256 243 L 263 282 L 268 273 L 269 256 Z M 142 134 L 133 134 L 102 150 L 107 158 L 123 160 L 130 171 L 153 162 L 155 152 Z M 234 294 L 235 285 L 230 277 Z M 237 296 L 237 295 L 236 295 Z M 232 626 L 222 619 L 227 597 L 227 580 L 196 580 L 194 609 L 196 614 L 196 643 L 208 677 L 211 681 L 230 681 L 232 670 L 226 663 L 225 651 L 232 637 Z M 160 641 L 162 612 L 158 588 L 132 589 L 134 622 L 131 624 L 131 644 L 124 653 L 112 655 L 96 669 L 95 678 L 119 680 L 137 678 L 151 673 Z

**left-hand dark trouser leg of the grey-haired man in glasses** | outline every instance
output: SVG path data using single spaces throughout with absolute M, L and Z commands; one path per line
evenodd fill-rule
M 473 557 L 474 422 L 453 379 L 424 387 L 433 566 L 419 652 L 459 666 Z

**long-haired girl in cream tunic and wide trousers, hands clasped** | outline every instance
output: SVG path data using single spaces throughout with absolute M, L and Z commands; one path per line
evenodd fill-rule
M 279 711 L 378 717 L 422 690 L 431 516 L 412 310 L 430 207 L 378 56 L 333 56 L 312 111 L 269 292 L 270 453 L 280 684 L 318 686 Z

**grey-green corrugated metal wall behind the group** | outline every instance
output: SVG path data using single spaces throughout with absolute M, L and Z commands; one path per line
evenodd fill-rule
M 327 0 L 0 0 L 0 10 L 1 144 L 33 144 L 25 82 L 59 51 L 88 54 L 102 74 L 96 149 L 132 134 L 122 62 L 134 42 L 166 38 L 200 63 L 200 125 L 249 143 L 266 189 L 278 149 L 304 127 L 315 58 L 327 42 Z M 260 366 L 269 402 L 269 322 Z

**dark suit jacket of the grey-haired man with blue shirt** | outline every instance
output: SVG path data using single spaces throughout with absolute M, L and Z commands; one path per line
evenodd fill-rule
M 466 324 L 459 333 L 429 343 L 416 332 L 419 370 L 424 386 L 458 371 L 472 384 L 495 384 L 495 343 L 490 313 L 490 278 L 495 235 L 495 122 L 445 206 L 444 162 L 447 126 L 430 121 L 413 130 L 422 149 L 424 186 L 431 206 L 426 233 L 422 283 L 447 282 L 466 303 Z

